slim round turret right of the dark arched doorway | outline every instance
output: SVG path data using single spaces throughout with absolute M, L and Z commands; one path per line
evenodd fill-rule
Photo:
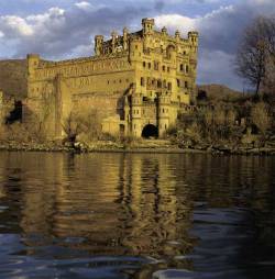
M 163 89 L 158 93 L 158 135 L 162 137 L 169 126 L 169 114 L 170 114 L 170 92 Z

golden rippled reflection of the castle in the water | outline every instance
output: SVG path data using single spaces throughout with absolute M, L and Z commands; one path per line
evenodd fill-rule
M 20 185 L 23 233 L 65 241 L 84 237 L 85 242 L 63 245 L 95 255 L 157 258 L 190 250 L 191 200 L 184 181 L 176 180 L 175 169 L 169 168 L 172 158 L 121 154 L 99 160 L 97 156 L 102 155 L 18 158 L 18 172 L 7 177 L 7 183 Z M 43 169 L 42 177 L 32 174 L 37 168 Z M 13 196 L 10 187 L 2 191 Z

